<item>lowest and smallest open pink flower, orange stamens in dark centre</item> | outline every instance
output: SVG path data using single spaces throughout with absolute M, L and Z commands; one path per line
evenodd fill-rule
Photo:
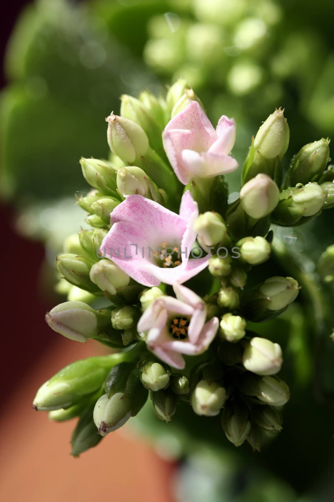
M 219 320 L 205 322 L 203 300 L 185 286 L 173 286 L 176 298 L 161 296 L 139 319 L 139 332 L 148 331 L 146 343 L 162 361 L 183 369 L 181 354 L 197 355 L 204 352 L 214 339 Z

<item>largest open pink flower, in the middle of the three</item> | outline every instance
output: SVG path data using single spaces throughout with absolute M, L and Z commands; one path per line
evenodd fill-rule
M 198 206 L 189 191 L 180 215 L 142 195 L 129 195 L 111 213 L 112 227 L 100 253 L 144 286 L 188 281 L 208 265 L 209 256 L 191 258 Z

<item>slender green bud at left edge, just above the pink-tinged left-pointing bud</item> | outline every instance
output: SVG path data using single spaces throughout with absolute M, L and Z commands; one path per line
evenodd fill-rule
M 84 257 L 70 253 L 59 255 L 57 268 L 69 283 L 94 293 L 97 291 L 89 278 L 91 263 Z

